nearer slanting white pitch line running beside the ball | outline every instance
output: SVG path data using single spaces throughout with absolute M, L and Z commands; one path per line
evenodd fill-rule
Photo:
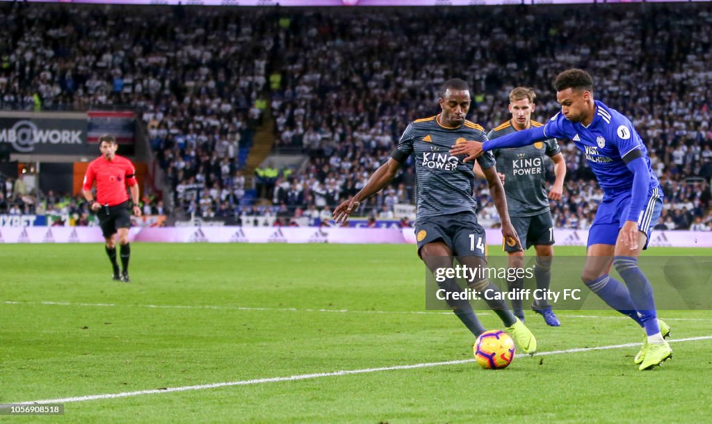
M 675 339 L 675 340 L 669 340 L 669 343 L 679 343 L 679 342 L 683 342 L 683 341 L 699 341 L 699 340 L 712 340 L 712 336 L 698 336 L 698 337 L 688 337 L 686 339 Z M 573 354 L 573 353 L 586 352 L 586 351 L 619 349 L 619 348 L 633 347 L 633 346 L 639 346 L 639 345 L 640 345 L 639 343 L 626 343 L 626 344 L 612 344 L 609 346 L 582 347 L 582 348 L 576 348 L 576 349 L 565 349 L 565 350 L 560 350 L 560 351 L 541 352 L 541 353 L 535 354 L 534 356 Z M 383 366 L 380 368 L 352 369 L 352 370 L 333 371 L 333 372 L 329 372 L 329 373 L 300 374 L 297 376 L 288 376 L 288 377 L 256 378 L 253 380 L 226 381 L 224 383 L 200 384 L 197 386 L 155 388 L 152 390 L 127 391 L 127 392 L 123 392 L 123 393 L 107 393 L 107 394 L 103 394 L 103 395 L 76 396 L 73 398 L 58 398 L 58 399 L 44 399 L 41 401 L 13 402 L 12 404 L 17 405 L 17 404 L 71 403 L 71 402 L 83 402 L 83 401 L 98 401 L 98 400 L 104 400 L 104 399 L 116 399 L 116 398 L 128 398 L 131 396 L 152 395 L 152 394 L 157 394 L 157 393 L 172 393 L 172 392 L 181 392 L 181 391 L 205 390 L 208 388 L 220 388 L 220 387 L 231 387 L 231 386 L 249 386 L 249 385 L 253 385 L 253 384 L 278 383 L 281 381 L 310 380 L 313 378 L 348 376 L 351 374 L 376 373 L 376 372 L 380 372 L 380 371 L 395 371 L 395 370 L 402 370 L 402 369 L 429 368 L 429 367 L 433 367 L 433 366 L 459 365 L 459 364 L 466 364 L 468 362 L 473 362 L 473 361 L 474 361 L 474 359 L 461 359 L 459 361 L 426 362 L 424 364 Z M 0 408 L 2 408 L 2 407 L 3 407 L 3 405 L 0 405 Z

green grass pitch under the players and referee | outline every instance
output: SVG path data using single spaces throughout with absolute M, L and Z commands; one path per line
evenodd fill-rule
M 557 247 L 559 255 L 583 248 Z M 654 248 L 645 255 L 712 255 Z M 473 361 L 449 312 L 424 311 L 413 245 L 132 245 L 110 279 L 102 245 L 0 245 L 0 403 L 68 401 L 12 422 L 706 422 L 712 340 L 671 344 L 637 371 L 642 332 L 612 311 L 528 314 L 541 352 Z M 578 275 L 572 275 L 577 280 Z M 582 288 L 583 285 L 581 285 Z M 481 312 L 488 328 L 501 328 Z M 712 336 L 712 312 L 665 311 L 672 339 Z M 365 370 L 334 375 L 340 370 Z M 305 376 L 327 373 L 326 375 Z M 332 374 L 329 374 L 332 373 Z M 302 376 L 292 380 L 265 378 Z M 251 381 L 170 393 L 153 389 Z

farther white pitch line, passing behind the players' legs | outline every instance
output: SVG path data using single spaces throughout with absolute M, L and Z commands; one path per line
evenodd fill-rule
M 271 307 L 240 307 L 240 306 L 217 306 L 217 305 L 187 305 L 187 304 L 115 304 L 115 303 L 81 303 L 81 302 L 16 302 L 7 300 L 5 304 L 44 304 L 50 306 L 73 306 L 73 307 L 138 307 L 150 309 L 214 309 L 229 311 L 273 311 L 273 312 L 337 312 L 356 314 L 414 314 L 414 315 L 451 315 L 451 312 L 429 312 L 429 311 L 360 311 L 355 309 L 298 309 L 298 308 L 271 308 Z M 487 316 L 491 312 L 476 311 L 477 315 Z M 629 319 L 624 316 L 601 317 L 598 315 L 560 315 L 562 318 L 590 318 L 590 319 Z M 702 321 L 712 322 L 712 318 L 665 318 L 666 321 Z

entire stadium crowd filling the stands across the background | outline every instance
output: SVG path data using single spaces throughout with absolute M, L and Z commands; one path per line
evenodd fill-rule
M 508 120 L 515 85 L 535 89 L 533 117 L 548 120 L 558 110 L 550 81 L 577 66 L 646 142 L 666 195 L 659 225 L 712 224 L 709 4 L 0 7 L 0 107 L 142 110 L 177 215 L 326 218 L 387 159 L 408 122 L 438 112 L 444 80 L 468 80 L 468 119 L 489 129 Z M 456 28 L 468 28 L 467 36 Z M 266 117 L 276 152 L 309 160 L 299 169 L 258 169 L 255 192 L 245 161 Z M 553 216 L 562 228 L 587 228 L 602 192 L 573 144 L 562 142 L 562 150 L 567 184 Z M 405 166 L 360 212 L 394 218 L 394 205 L 414 203 L 414 184 Z M 484 182 L 474 190 L 481 218 L 496 222 Z M 0 213 L 55 207 L 49 196 L 18 196 L 12 181 L 2 191 Z

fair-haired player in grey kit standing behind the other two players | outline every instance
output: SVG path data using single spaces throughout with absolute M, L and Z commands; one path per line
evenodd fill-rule
M 488 139 L 497 139 L 506 134 L 541 127 L 543 124 L 531 120 L 535 109 L 536 95 L 533 90 L 517 87 L 509 93 L 509 112 L 511 120 L 491 130 Z M 496 149 L 492 153 L 497 161 L 497 171 L 501 174 L 504 191 L 507 195 L 507 207 L 512 226 L 517 230 L 522 249 L 518 246 L 505 243 L 510 267 L 522 268 L 524 250 L 534 246 L 536 252 L 536 265 L 534 279 L 538 290 L 549 290 L 551 282 L 551 262 L 554 255 L 554 224 L 551 219 L 549 199 L 559 200 L 564 187 L 566 176 L 566 162 L 561 154 L 561 149 L 556 139 L 547 139 L 543 142 L 515 149 Z M 545 187 L 545 157 L 550 157 L 554 162 L 556 180 L 547 194 Z M 475 166 L 476 174 L 481 174 Z M 524 281 L 521 277 L 509 281 L 510 291 L 523 289 Z M 524 321 L 522 300 L 512 300 L 514 314 Z M 541 314 L 544 321 L 551 327 L 561 324 L 554 314 L 551 305 L 546 300 L 535 300 L 532 310 Z

